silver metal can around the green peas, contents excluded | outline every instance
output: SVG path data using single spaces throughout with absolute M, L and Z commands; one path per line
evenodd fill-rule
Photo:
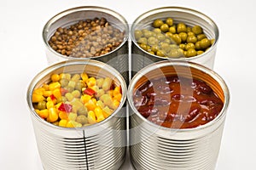
M 152 23 L 156 19 L 166 20 L 166 18 L 171 17 L 174 23 L 183 22 L 187 26 L 201 26 L 205 35 L 209 39 L 215 39 L 212 47 L 209 48 L 203 54 L 197 55 L 190 58 L 177 58 L 171 59 L 166 57 L 160 57 L 157 55 L 150 54 L 143 50 L 135 39 L 134 32 L 136 30 L 150 29 L 152 28 Z M 176 23 L 176 24 L 177 24 Z M 160 60 L 172 60 L 172 61 L 190 61 L 201 65 L 205 65 L 210 69 L 213 69 L 214 59 L 216 54 L 216 48 L 218 43 L 218 26 L 215 22 L 210 19 L 206 14 L 202 14 L 191 8 L 182 7 L 164 7 L 155 8 L 144 14 L 141 14 L 131 25 L 131 71 L 132 76 L 134 76 L 137 71 L 143 69 L 143 67 L 150 65 L 154 62 Z

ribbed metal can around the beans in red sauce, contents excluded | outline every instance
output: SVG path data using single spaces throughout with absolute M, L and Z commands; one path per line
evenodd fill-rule
M 149 122 L 133 103 L 134 90 L 148 79 L 178 75 L 200 79 L 224 102 L 221 112 L 207 124 L 193 128 L 167 128 Z M 127 92 L 130 105 L 130 154 L 135 169 L 213 170 L 224 129 L 230 93 L 224 80 L 207 67 L 189 62 L 160 61 L 148 65 L 132 79 Z

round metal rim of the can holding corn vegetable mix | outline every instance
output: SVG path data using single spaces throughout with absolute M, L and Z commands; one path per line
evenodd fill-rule
M 36 84 L 38 83 L 39 80 L 42 79 L 42 77 L 46 76 L 47 74 L 49 74 L 52 71 L 55 71 L 56 69 L 68 66 L 68 65 L 94 65 L 94 66 L 99 66 L 104 70 L 107 70 L 109 72 L 111 72 L 113 75 L 115 75 L 115 77 L 118 79 L 121 88 L 122 88 L 122 99 L 121 102 L 119 103 L 119 107 L 113 111 L 113 113 L 108 116 L 106 119 L 104 119 L 102 122 L 97 122 L 95 124 L 86 126 L 86 127 L 60 127 L 60 126 L 56 126 L 50 122 L 45 121 L 44 119 L 42 119 L 40 116 L 38 116 L 38 114 L 36 113 L 36 111 L 34 111 L 33 106 L 32 106 L 32 91 L 35 88 Z M 97 61 L 94 59 L 76 59 L 76 60 L 67 60 L 67 61 L 61 61 L 59 63 L 56 63 L 55 65 L 50 65 L 49 67 L 45 68 L 43 71 L 40 71 L 31 81 L 31 83 L 29 84 L 28 88 L 27 88 L 27 92 L 26 92 L 26 103 L 27 106 L 30 110 L 30 112 L 32 113 L 32 116 L 35 116 L 36 119 L 39 122 L 44 123 L 44 125 L 49 126 L 49 127 L 54 127 L 56 129 L 62 129 L 62 130 L 68 130 L 68 131 L 77 131 L 79 130 L 85 130 L 85 129 L 90 129 L 90 128 L 94 128 L 94 127 L 99 127 L 102 126 L 103 124 L 107 123 L 109 120 L 111 120 L 111 118 L 113 116 L 116 116 L 120 109 L 123 107 L 123 105 L 125 105 L 125 101 L 126 101 L 126 94 L 127 94 L 127 87 L 126 87 L 126 83 L 125 83 L 125 79 L 120 75 L 120 73 L 115 70 L 112 66 L 107 65 L 101 61 Z

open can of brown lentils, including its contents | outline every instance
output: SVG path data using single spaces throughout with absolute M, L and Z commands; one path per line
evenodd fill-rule
M 44 26 L 49 64 L 67 59 L 96 59 L 113 66 L 128 82 L 129 26 L 108 8 L 84 6 L 67 9 Z

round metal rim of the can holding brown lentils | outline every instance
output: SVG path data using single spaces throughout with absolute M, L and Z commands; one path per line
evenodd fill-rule
M 119 14 L 119 13 L 117 13 L 117 12 L 115 12 L 112 9 L 109 9 L 109 8 L 104 8 L 104 7 L 99 7 L 99 6 L 79 6 L 79 7 L 74 7 L 74 8 L 68 8 L 66 10 L 61 11 L 58 14 L 55 14 L 44 25 L 43 32 L 42 32 L 44 46 L 46 48 L 48 48 L 51 53 L 57 55 L 58 57 L 60 57 L 62 59 L 78 59 L 78 60 L 81 59 L 81 58 L 69 57 L 69 56 L 57 53 L 53 48 L 51 48 L 49 46 L 49 43 L 48 43 L 48 40 L 47 40 L 49 27 L 52 24 L 54 24 L 56 20 L 60 20 L 62 17 L 66 16 L 68 14 L 73 14 L 74 12 L 79 12 L 79 11 L 96 11 L 96 12 L 101 12 L 101 13 L 105 13 L 105 14 L 110 14 L 110 15 L 116 17 L 119 21 L 121 21 L 124 24 L 124 26 L 125 26 L 125 37 L 124 37 L 123 42 L 119 45 L 119 47 L 113 49 L 113 51 L 110 51 L 108 54 L 112 54 L 115 51 L 119 50 L 119 48 L 123 47 L 125 42 L 127 42 L 128 38 L 129 38 L 129 26 L 128 26 L 128 22 L 127 22 L 127 20 L 125 19 L 124 16 L 122 16 L 121 14 Z M 100 57 L 107 56 L 108 54 L 102 54 L 102 55 L 96 56 L 96 57 L 87 57 L 87 58 L 84 58 L 84 59 L 97 59 L 97 58 L 100 58 Z

